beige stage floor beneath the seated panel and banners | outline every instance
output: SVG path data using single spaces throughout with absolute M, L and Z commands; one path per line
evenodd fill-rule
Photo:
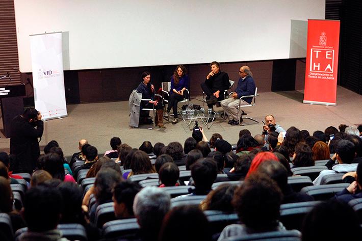
M 201 105 L 200 99 L 199 96 L 191 102 Z M 324 130 L 330 125 L 338 127 L 341 123 L 362 123 L 362 95 L 343 87 L 337 88 L 337 106 L 303 104 L 302 101 L 302 91 L 262 92 L 256 98 L 255 106 L 245 108 L 248 116 L 258 120 L 259 124 L 231 126 L 218 118 L 212 128 L 204 128 L 204 132 L 208 138 L 213 133 L 220 133 L 225 140 L 236 144 L 241 129 L 249 129 L 253 136 L 260 134 L 262 120 L 267 114 L 273 114 L 276 122 L 285 129 L 296 126 L 307 129 L 311 135 L 313 131 Z M 67 109 L 68 117 L 44 123 L 44 134 L 40 142 L 44 146 L 51 140 L 58 141 L 66 156 L 77 151 L 80 139 L 87 139 L 98 149 L 98 153 L 104 153 L 110 149 L 112 137 L 120 137 L 122 143 L 138 148 L 146 140 L 152 144 L 163 142 L 167 145 L 172 141 L 184 144 L 192 133 L 182 120 L 176 125 L 172 125 L 171 121 L 165 123 L 166 129 L 130 128 L 128 101 L 69 104 Z M 245 120 L 245 123 L 247 121 L 249 120 Z M 3 133 L 0 133 L 0 137 L 0 150 L 9 152 L 10 139 L 6 139 Z

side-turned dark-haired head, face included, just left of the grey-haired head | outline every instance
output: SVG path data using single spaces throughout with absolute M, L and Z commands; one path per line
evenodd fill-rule
M 142 186 L 138 182 L 125 180 L 118 182 L 113 188 L 113 206 L 117 218 L 133 218 L 133 201 Z

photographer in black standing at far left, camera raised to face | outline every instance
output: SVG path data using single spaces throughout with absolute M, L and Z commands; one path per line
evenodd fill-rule
M 38 138 L 42 137 L 44 129 L 41 117 L 41 113 L 31 107 L 11 122 L 10 154 L 14 155 L 14 173 L 32 174 L 36 168 L 40 156 Z

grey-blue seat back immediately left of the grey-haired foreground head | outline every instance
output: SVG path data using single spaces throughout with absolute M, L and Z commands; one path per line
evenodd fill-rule
M 102 237 L 118 239 L 136 239 L 140 226 L 137 219 L 120 219 L 107 222 L 102 228 Z

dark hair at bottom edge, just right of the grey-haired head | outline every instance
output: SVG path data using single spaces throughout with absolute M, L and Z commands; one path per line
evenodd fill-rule
M 166 214 L 159 234 L 159 241 L 169 240 L 210 241 L 210 223 L 198 207 L 174 207 Z

